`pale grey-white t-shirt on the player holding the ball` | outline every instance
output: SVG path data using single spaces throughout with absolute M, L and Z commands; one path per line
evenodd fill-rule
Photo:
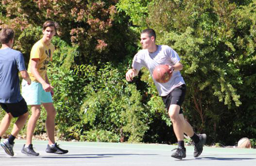
M 158 65 L 175 65 L 179 63 L 179 55 L 168 45 L 157 45 L 157 50 L 154 53 L 149 53 L 147 49 L 140 50 L 132 62 L 132 68 L 140 71 L 142 66 L 145 66 L 152 76 L 152 73 Z M 154 79 L 153 79 L 154 80 Z M 160 96 L 166 96 L 176 87 L 185 84 L 180 71 L 174 71 L 171 79 L 166 83 L 155 82 L 156 89 Z

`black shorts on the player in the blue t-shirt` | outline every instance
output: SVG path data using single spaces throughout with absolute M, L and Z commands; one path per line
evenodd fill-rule
M 21 101 L 15 103 L 0 103 L 0 106 L 7 113 L 11 113 L 13 117 L 19 117 L 28 112 L 27 103 L 24 98 L 22 98 Z

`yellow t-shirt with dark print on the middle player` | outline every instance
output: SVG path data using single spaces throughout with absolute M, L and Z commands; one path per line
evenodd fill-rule
M 50 43 L 50 45 L 46 45 L 43 43 L 42 39 L 39 40 L 36 44 L 33 45 L 31 52 L 30 52 L 30 59 L 28 63 L 28 74 L 31 81 L 36 81 L 36 78 L 31 73 L 31 60 L 32 59 L 39 59 L 39 63 L 37 64 L 37 71 L 40 76 L 46 80 L 46 71 L 47 66 L 50 61 L 52 61 L 52 54 L 55 51 L 55 46 Z

